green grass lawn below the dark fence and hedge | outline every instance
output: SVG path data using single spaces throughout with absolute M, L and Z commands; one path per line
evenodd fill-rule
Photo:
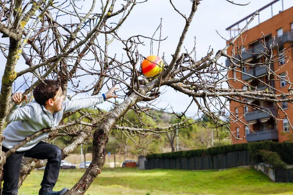
M 61 170 L 54 190 L 73 187 L 84 169 Z M 19 195 L 38 195 L 43 170 L 34 170 Z M 293 183 L 274 183 L 250 168 L 224 171 L 103 169 L 85 195 L 293 195 Z

